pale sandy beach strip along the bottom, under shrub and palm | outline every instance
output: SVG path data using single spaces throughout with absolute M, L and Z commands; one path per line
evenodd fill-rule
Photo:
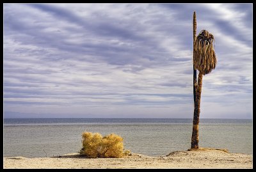
M 89 159 L 79 154 L 59 157 L 4 157 L 4 168 L 252 168 L 252 155 L 199 148 L 161 157 L 134 154 L 123 158 Z

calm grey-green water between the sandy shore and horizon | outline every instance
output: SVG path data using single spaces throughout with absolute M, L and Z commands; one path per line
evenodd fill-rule
M 4 157 L 47 157 L 78 152 L 84 131 L 124 138 L 125 149 L 161 156 L 191 146 L 192 119 L 22 118 L 4 119 Z M 252 120 L 200 119 L 199 147 L 252 154 Z M 44 152 L 45 151 L 45 152 Z

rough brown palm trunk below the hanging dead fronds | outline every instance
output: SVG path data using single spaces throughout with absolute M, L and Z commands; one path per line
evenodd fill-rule
M 203 73 L 199 72 L 198 74 L 198 85 L 196 88 L 196 101 L 194 108 L 194 118 L 193 118 L 193 132 L 191 138 L 191 148 L 198 148 L 199 140 L 199 115 L 200 115 L 200 101 L 201 101 L 201 92 L 202 92 L 202 82 L 203 82 Z

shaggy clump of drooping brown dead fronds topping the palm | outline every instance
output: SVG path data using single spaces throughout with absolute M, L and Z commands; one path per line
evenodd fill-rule
M 214 36 L 206 30 L 202 30 L 196 37 L 193 63 L 195 69 L 198 69 L 203 75 L 210 73 L 216 67 L 214 43 Z

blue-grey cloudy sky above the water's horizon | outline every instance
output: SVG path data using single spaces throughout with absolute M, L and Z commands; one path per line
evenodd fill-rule
M 200 118 L 252 118 L 252 4 L 4 4 L 4 118 L 193 118 L 193 11 Z

